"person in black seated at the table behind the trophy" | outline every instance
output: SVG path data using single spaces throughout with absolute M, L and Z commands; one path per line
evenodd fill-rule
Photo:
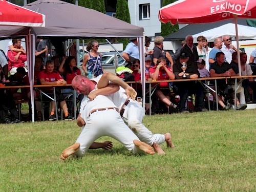
M 184 63 L 185 69 L 185 76 L 182 64 Z M 174 64 L 174 74 L 176 79 L 196 79 L 200 76 L 199 71 L 197 69 L 197 65 L 195 62 L 189 60 L 189 56 L 187 53 L 181 53 L 179 61 Z M 179 112 L 180 113 L 188 113 L 189 111 L 186 110 L 186 100 L 188 96 L 192 94 L 196 94 L 196 107 L 197 111 L 207 111 L 205 109 L 205 102 L 204 102 L 204 92 L 203 87 L 199 82 L 196 81 L 186 81 L 186 82 L 175 82 L 175 90 L 177 94 L 180 96 L 180 101 L 178 103 Z

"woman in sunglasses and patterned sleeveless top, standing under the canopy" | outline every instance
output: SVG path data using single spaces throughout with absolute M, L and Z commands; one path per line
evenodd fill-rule
M 93 76 L 97 77 L 103 74 L 101 65 L 101 53 L 98 52 L 99 43 L 96 40 L 88 42 L 86 50 L 89 52 L 83 57 L 82 69 L 84 72 L 92 72 Z M 87 67 L 86 67 L 87 65 Z

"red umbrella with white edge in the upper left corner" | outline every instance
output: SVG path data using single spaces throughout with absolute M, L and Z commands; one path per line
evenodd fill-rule
M 0 25 L 45 27 L 45 15 L 0 0 Z

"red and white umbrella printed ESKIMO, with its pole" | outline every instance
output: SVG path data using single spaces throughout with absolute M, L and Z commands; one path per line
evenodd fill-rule
M 237 17 L 256 18 L 255 0 L 179 0 L 159 9 L 162 23 L 202 24 L 234 18 L 237 47 L 239 47 Z M 193 31 L 191 31 L 193 33 Z M 238 49 L 239 53 L 239 49 Z M 240 54 L 238 54 L 240 64 Z M 239 65 L 241 75 L 241 66 Z

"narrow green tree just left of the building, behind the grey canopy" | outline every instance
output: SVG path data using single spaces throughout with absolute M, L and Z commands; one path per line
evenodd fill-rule
M 131 17 L 130 17 L 128 2 L 126 0 L 117 0 L 116 18 L 123 20 L 126 23 L 131 24 Z M 123 43 L 123 49 L 125 49 L 126 45 L 129 42 L 129 39 L 120 38 L 118 41 Z

